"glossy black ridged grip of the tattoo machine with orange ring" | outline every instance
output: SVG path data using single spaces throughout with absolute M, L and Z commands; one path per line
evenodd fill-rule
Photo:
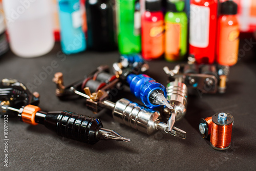
M 102 127 L 99 119 L 67 111 L 47 113 L 44 124 L 59 136 L 88 144 L 99 141 L 96 133 Z

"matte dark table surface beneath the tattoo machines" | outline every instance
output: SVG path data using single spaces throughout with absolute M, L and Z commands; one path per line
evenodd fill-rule
M 225 94 L 190 95 L 187 113 L 176 127 L 187 132 L 180 139 L 160 132 L 146 135 L 119 124 L 110 114 L 93 114 L 84 105 L 84 99 L 60 101 L 55 96 L 52 78 L 55 72 L 64 74 L 66 84 L 79 80 L 100 65 L 112 65 L 118 52 L 87 51 L 63 55 L 60 45 L 47 55 L 20 58 L 8 52 L 0 59 L 3 78 L 15 78 L 40 94 L 42 111 L 67 110 L 98 117 L 103 126 L 113 129 L 132 142 L 99 141 L 94 145 L 62 138 L 44 125 L 28 125 L 15 117 L 8 118 L 8 168 L 4 167 L 4 119 L 0 118 L 0 170 L 255 170 L 256 169 L 256 62 L 254 51 L 240 46 L 239 62 L 231 67 Z M 150 61 L 148 75 L 166 84 L 164 66 L 177 63 L 164 60 Z M 52 67 L 42 74 L 44 67 Z M 41 75 L 40 75 L 41 74 Z M 44 80 L 38 81 L 36 77 Z M 130 92 L 117 98 L 135 99 Z M 231 147 L 217 151 L 199 133 L 200 118 L 218 112 L 229 112 L 234 117 Z

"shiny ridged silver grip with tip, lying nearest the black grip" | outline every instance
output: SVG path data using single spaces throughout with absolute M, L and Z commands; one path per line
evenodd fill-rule
M 105 108 L 112 110 L 115 121 L 133 127 L 134 129 L 152 135 L 157 131 L 166 134 L 186 138 L 186 132 L 173 127 L 172 131 L 167 131 L 168 125 L 160 122 L 160 113 L 158 111 L 144 108 L 142 105 L 122 98 L 116 103 L 108 100 L 101 102 Z

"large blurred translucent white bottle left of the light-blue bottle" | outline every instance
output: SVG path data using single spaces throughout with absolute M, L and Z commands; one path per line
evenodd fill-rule
M 51 0 L 3 0 L 10 48 L 20 57 L 36 57 L 54 46 Z

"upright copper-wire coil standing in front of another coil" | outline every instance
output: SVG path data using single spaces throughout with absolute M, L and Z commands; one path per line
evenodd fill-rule
M 227 114 L 227 116 L 226 123 L 218 122 L 217 115 L 212 116 L 210 143 L 215 149 L 223 150 L 230 146 L 233 117 L 230 114 Z

